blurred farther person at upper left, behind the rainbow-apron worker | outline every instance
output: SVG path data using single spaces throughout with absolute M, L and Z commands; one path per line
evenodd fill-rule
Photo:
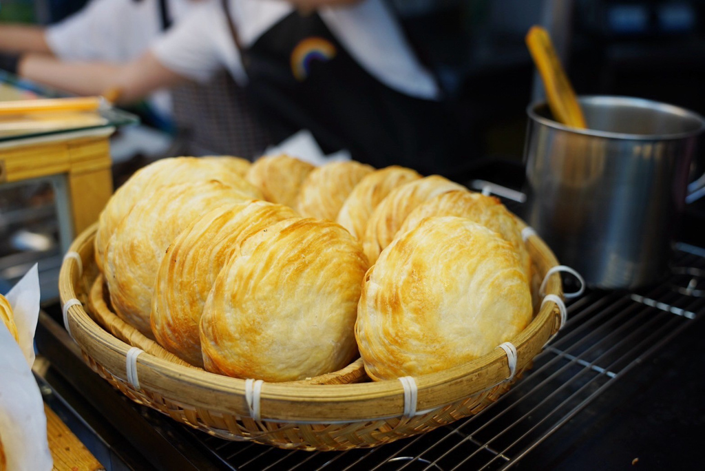
M 81 64 L 122 64 L 138 59 L 195 6 L 209 1 L 213 0 L 92 0 L 54 25 L 0 23 L 0 68 L 83 94 L 80 84 L 90 78 L 82 73 Z M 57 82 L 53 68 L 39 66 L 28 77 L 20 71 L 25 59 L 60 63 L 69 72 L 62 76 L 65 80 Z M 154 87 L 144 98 L 147 106 L 137 111 L 147 123 L 172 133 L 176 128 L 168 154 L 236 154 L 252 159 L 268 142 L 244 91 L 223 68 L 202 85 L 185 83 L 171 91 Z

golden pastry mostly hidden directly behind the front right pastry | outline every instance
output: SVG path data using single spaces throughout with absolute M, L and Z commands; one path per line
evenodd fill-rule
M 422 219 L 430 216 L 466 217 L 470 221 L 492 229 L 514 247 L 527 279 L 531 279 L 531 258 L 522 239 L 522 231 L 517 226 L 514 216 L 498 198 L 470 191 L 443 193 L 419 204 L 410 212 L 399 233 L 415 228 Z

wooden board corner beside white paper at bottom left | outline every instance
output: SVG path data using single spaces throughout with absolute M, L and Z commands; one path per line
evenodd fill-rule
M 44 412 L 47 414 L 47 436 L 51 458 L 54 458 L 54 470 L 105 469 L 46 404 L 44 404 Z

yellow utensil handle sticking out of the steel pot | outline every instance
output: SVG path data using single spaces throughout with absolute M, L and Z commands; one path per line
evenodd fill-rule
M 532 26 L 526 43 L 541 79 L 544 80 L 548 106 L 556 121 L 574 128 L 587 128 L 580 104 L 560 65 L 548 32 L 543 27 Z

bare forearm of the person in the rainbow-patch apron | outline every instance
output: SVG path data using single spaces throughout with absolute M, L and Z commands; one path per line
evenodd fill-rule
M 152 52 L 123 64 L 62 62 L 52 56 L 27 54 L 20 60 L 18 72 L 24 78 L 80 95 L 99 95 L 117 89 L 121 104 L 187 80 L 162 66 Z

